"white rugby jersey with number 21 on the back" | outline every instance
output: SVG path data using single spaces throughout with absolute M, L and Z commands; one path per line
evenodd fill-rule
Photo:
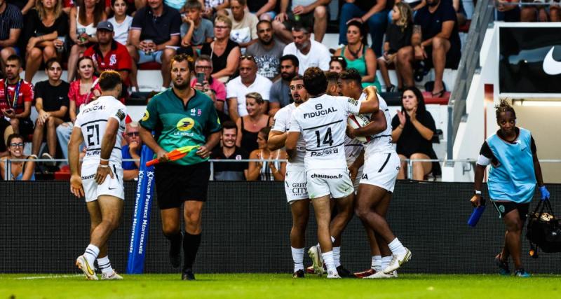
M 76 127 L 82 130 L 83 140 L 86 143 L 86 156 L 83 158 L 83 165 L 100 162 L 101 141 L 105 134 L 105 127 L 109 118 L 119 121 L 119 130 L 111 151 L 109 162 L 121 165 L 121 139 L 125 131 L 125 118 L 127 115 L 126 106 L 118 99 L 110 96 L 97 98 L 95 101 L 81 107 L 80 113 L 76 116 Z

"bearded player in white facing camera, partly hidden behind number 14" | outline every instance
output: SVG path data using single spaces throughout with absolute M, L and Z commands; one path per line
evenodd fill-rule
M 296 107 L 308 100 L 308 92 L 304 88 L 304 78 L 295 76 L 290 81 L 290 94 L 294 103 L 283 107 L 275 114 L 273 128 L 269 133 L 269 149 L 275 151 L 285 146 L 290 116 Z M 306 144 L 300 137 L 297 141 L 296 155 L 286 165 L 285 193 L 292 212 L 292 230 L 290 230 L 290 248 L 294 260 L 294 278 L 304 277 L 304 236 L 310 214 L 310 200 L 306 188 L 306 171 L 304 155 Z

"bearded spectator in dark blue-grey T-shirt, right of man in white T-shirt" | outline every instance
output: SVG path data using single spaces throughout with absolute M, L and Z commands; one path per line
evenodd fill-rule
M 298 74 L 298 58 L 288 54 L 280 57 L 280 80 L 271 86 L 269 116 L 275 116 L 276 111 L 292 103 L 290 81 Z

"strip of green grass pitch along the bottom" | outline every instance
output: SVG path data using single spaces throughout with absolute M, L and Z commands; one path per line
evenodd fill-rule
M 400 274 L 398 279 L 337 279 L 290 274 L 123 275 L 123 281 L 81 276 L 0 274 L 1 298 L 559 298 L 559 275 L 529 279 L 498 274 Z M 34 279 L 29 279 L 34 277 Z

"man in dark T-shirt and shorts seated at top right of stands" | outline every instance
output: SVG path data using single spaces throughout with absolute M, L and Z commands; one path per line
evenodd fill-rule
M 427 6 L 417 11 L 414 17 L 414 23 L 421 27 L 421 32 L 413 30 L 412 46 L 398 50 L 397 69 L 405 86 L 414 86 L 414 60 L 424 60 L 425 68 L 434 66 L 432 95 L 442 97 L 446 92 L 442 82 L 444 68 L 456 69 L 460 61 L 460 36 L 456 13 L 450 1 L 427 0 L 426 3 Z

